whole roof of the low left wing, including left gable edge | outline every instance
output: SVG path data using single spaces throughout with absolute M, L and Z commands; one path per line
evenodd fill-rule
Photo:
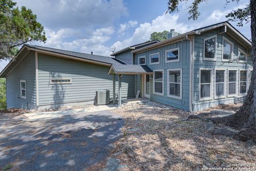
M 109 67 L 112 64 L 115 64 L 115 65 L 125 64 L 124 62 L 118 59 L 110 58 L 107 56 L 65 51 L 65 50 L 59 50 L 57 48 L 50 48 L 50 47 L 43 47 L 43 46 L 36 46 L 36 45 L 23 45 L 20 51 L 17 53 L 17 55 L 15 55 L 15 58 L 12 59 L 9 62 L 9 64 L 7 64 L 7 66 L 2 70 L 2 72 L 0 73 L 0 77 L 6 77 L 6 75 L 10 71 L 12 71 L 12 69 L 15 68 L 23 58 L 25 58 L 25 56 L 28 54 L 29 51 L 36 51 L 39 53 L 59 56 L 61 58 L 74 59 L 74 60 L 79 60 L 79 61 L 84 61 L 89 63 L 100 64 L 103 66 L 109 66 Z

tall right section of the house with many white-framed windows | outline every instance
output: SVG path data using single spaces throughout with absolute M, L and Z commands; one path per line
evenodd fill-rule
M 252 46 L 229 22 L 195 29 L 131 51 L 142 97 L 188 111 L 245 99 L 252 73 Z

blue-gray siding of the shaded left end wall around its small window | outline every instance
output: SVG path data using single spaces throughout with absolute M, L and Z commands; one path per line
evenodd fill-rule
M 27 51 L 20 55 L 25 56 Z M 35 52 L 25 58 L 6 76 L 7 108 L 36 108 Z M 20 80 L 26 80 L 27 98 L 20 98 Z

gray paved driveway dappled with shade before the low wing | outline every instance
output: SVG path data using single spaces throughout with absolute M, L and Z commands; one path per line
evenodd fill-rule
M 0 113 L 0 170 L 86 170 L 122 136 L 119 118 L 100 111 L 29 121 Z

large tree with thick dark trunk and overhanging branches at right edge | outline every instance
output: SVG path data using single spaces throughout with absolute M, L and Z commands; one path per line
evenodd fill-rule
M 183 0 L 169 0 L 167 12 L 178 12 L 178 5 Z M 185 0 L 188 2 L 188 0 Z M 196 20 L 200 15 L 198 11 L 198 5 L 207 2 L 206 0 L 194 0 L 194 2 L 188 7 L 188 19 Z M 236 2 L 239 0 L 226 0 L 226 3 Z M 235 127 L 253 127 L 256 126 L 256 1 L 250 0 L 243 9 L 237 9 L 230 11 L 226 16 L 229 21 L 236 21 L 237 26 L 243 26 L 244 22 L 251 22 L 251 36 L 252 36 L 252 80 L 247 92 L 246 100 L 238 112 L 234 116 L 226 117 L 228 120 L 227 125 Z

